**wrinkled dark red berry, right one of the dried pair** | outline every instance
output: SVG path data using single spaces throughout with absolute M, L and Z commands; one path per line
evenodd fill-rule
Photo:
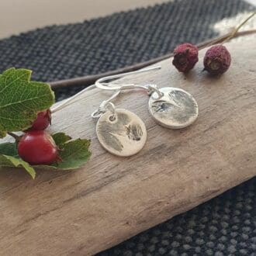
M 231 56 L 223 45 L 215 45 L 206 51 L 203 59 L 205 70 L 209 74 L 223 74 L 230 67 Z

